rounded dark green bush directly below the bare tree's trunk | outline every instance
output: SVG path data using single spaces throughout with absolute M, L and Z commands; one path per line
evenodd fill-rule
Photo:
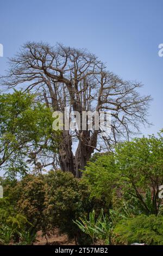
M 61 171 L 49 172 L 46 175 L 46 209 L 45 216 L 49 220 L 49 229 L 58 227 L 61 233 L 73 237 L 77 227 L 73 219 L 83 215 L 82 198 L 79 181 L 71 173 Z

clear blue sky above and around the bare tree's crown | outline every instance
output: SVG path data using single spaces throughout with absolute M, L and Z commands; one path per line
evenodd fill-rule
M 162 0 L 1 0 L 0 74 L 7 69 L 7 58 L 29 40 L 87 48 L 124 80 L 145 84 L 140 92 L 153 97 L 153 126 L 141 131 L 156 134 L 163 128 L 163 57 L 158 56 L 162 25 Z

